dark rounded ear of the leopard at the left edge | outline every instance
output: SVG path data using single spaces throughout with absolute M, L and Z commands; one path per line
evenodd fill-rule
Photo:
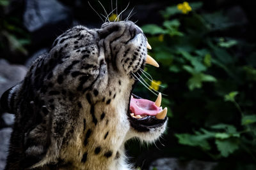
M 6 90 L 0 99 L 0 108 L 2 112 L 15 113 L 15 98 L 17 96 L 17 90 L 19 85 L 15 85 Z

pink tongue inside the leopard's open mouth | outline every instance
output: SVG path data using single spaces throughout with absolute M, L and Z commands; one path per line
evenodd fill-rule
M 134 113 L 134 115 L 155 116 L 162 110 L 162 108 L 157 107 L 152 101 L 148 101 L 147 99 L 134 99 L 131 97 L 130 111 Z

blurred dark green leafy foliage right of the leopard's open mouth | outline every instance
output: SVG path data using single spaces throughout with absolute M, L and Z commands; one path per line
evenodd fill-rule
M 142 27 L 153 48 L 148 53 L 161 65 L 147 72 L 166 83 L 159 91 L 168 95 L 163 106 L 172 108 L 168 135 L 212 160 L 243 155 L 255 163 L 256 45 L 216 34 L 241 24 L 223 11 L 199 14 L 201 2 L 189 5 L 188 14 L 169 6 L 161 11 L 162 25 Z

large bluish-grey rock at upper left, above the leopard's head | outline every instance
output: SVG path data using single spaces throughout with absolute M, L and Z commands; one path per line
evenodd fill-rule
M 24 25 L 32 32 L 33 45 L 49 45 L 72 25 L 72 13 L 56 0 L 26 0 Z

